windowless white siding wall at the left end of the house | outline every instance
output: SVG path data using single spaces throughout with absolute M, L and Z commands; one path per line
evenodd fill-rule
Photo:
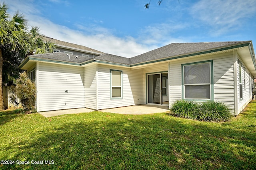
M 38 66 L 37 111 L 84 107 L 84 68 L 49 63 Z

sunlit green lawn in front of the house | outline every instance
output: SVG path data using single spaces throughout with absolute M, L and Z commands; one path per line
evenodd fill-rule
M 0 112 L 0 169 L 256 169 L 256 102 L 229 122 Z M 29 161 L 30 164 L 17 164 Z M 49 160 L 49 162 L 45 162 Z M 53 160 L 54 164 L 47 164 Z M 41 164 L 32 164 L 33 161 Z M 23 162 L 24 163 L 24 162 Z

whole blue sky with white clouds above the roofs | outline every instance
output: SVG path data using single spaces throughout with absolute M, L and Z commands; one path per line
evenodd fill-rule
M 169 43 L 256 44 L 256 0 L 151 0 L 146 10 L 149 1 L 0 0 L 41 34 L 123 57 Z

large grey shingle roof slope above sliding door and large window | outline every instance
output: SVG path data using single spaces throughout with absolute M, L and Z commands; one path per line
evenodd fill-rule
M 237 45 L 250 41 L 237 42 L 200 42 L 200 43 L 171 43 L 169 45 L 154 49 L 141 55 L 130 58 L 130 64 L 142 63 L 146 61 L 162 59 L 166 57 L 174 57 L 177 55 L 185 55 L 189 53 L 197 53 L 200 51 L 208 51 L 219 49 L 226 46 Z

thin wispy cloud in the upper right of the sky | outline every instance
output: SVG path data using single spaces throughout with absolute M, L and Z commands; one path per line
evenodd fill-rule
M 256 12 L 255 0 L 200 0 L 191 7 L 191 14 L 211 26 L 213 35 L 222 35 L 242 26 L 243 20 Z

